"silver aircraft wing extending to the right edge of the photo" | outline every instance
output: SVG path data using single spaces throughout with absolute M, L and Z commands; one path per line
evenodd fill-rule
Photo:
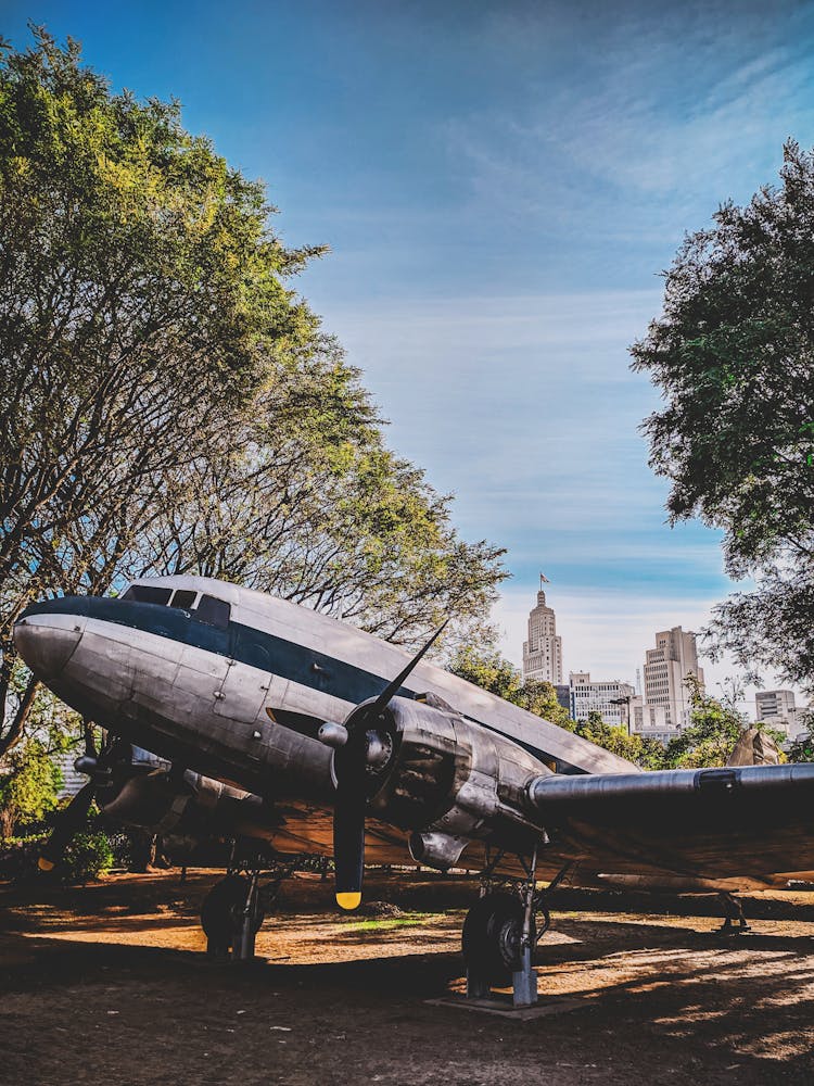
M 540 778 L 530 798 L 546 868 L 571 858 L 582 885 L 749 888 L 814 871 L 814 765 Z

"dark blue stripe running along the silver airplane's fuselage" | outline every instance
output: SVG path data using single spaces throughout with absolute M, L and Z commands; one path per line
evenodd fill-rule
M 228 629 L 218 629 L 202 622 L 195 617 L 194 611 L 181 610 L 164 604 L 144 604 L 105 596 L 62 596 L 58 599 L 47 599 L 33 604 L 23 611 L 21 619 L 28 615 L 48 614 L 94 618 L 116 626 L 141 630 L 160 637 L 168 637 L 204 652 L 226 656 L 270 674 L 279 674 L 301 686 L 331 694 L 333 697 L 351 702 L 354 705 L 370 697 L 377 697 L 389 681 L 381 675 L 357 668 L 353 664 L 345 664 L 333 656 L 327 656 L 325 653 L 318 653 L 306 645 L 278 637 L 265 630 L 233 621 L 229 622 Z M 418 696 L 416 691 L 406 686 L 403 686 L 398 694 L 402 697 L 415 698 Z M 467 716 L 467 719 L 480 724 L 481 728 L 504 735 L 540 761 L 547 761 L 551 757 L 539 747 L 524 743 L 513 735 L 507 735 L 506 732 L 493 724 L 487 724 L 475 717 Z M 561 773 L 582 774 L 584 772 L 582 769 L 562 761 L 558 761 L 557 770 Z

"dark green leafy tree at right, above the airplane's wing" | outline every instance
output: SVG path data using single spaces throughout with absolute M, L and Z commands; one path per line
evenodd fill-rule
M 644 424 L 672 522 L 723 531 L 709 635 L 755 675 L 814 689 L 814 155 L 784 149 L 779 187 L 725 203 L 665 274 L 663 313 L 631 349 L 665 406 Z

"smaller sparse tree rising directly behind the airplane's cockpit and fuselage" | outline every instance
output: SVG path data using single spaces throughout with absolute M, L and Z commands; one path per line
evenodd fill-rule
M 503 550 L 460 540 L 449 497 L 384 446 L 359 372 L 330 337 L 278 367 L 173 488 L 131 573 L 225 577 L 407 645 L 444 618 L 485 614 L 505 576 Z

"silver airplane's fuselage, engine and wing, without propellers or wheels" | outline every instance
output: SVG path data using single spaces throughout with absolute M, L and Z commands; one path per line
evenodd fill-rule
M 245 790 L 240 819 L 254 810 L 281 851 L 330 851 L 339 763 L 319 729 L 336 722 L 341 735 L 338 722 L 358 719 L 409 659 L 308 608 L 192 577 L 36 604 L 14 636 L 68 705 L 173 763 L 123 793 L 123 816 L 154 824 L 140 807 L 177 811 L 186 772 L 200 808 L 220 801 L 218 782 Z M 578 862 L 590 877 L 762 885 L 812 870 L 812 767 L 674 771 L 644 796 L 637 767 L 447 671 L 421 660 L 404 681 L 373 736 L 392 741 L 386 773 L 370 765 L 373 779 L 359 778 L 379 790 L 368 836 L 382 862 L 404 858 L 406 830 L 414 857 L 441 869 L 462 848 L 478 869 L 487 846 L 522 855 L 540 843 L 551 875 Z

